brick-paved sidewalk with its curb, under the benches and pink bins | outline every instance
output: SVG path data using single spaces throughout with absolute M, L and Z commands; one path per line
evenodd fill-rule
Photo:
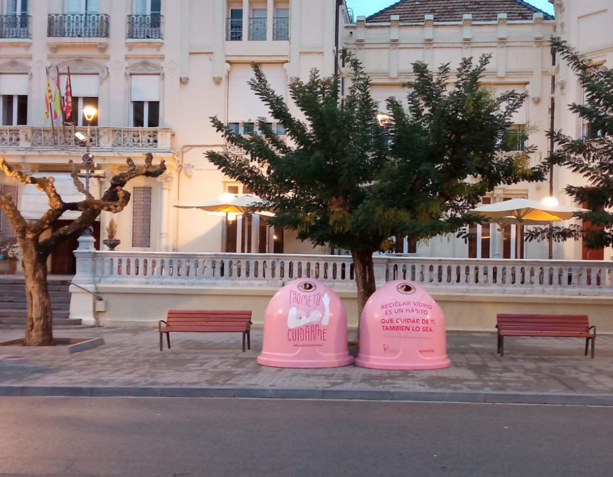
M 159 351 L 154 329 L 55 329 L 56 337 L 103 337 L 105 345 L 75 354 L 0 354 L 1 395 L 272 397 L 613 405 L 613 335 L 596 338 L 596 357 L 576 338 L 507 338 L 447 332 L 452 365 L 441 370 L 387 371 L 349 365 L 288 369 L 256 363 L 262 329 L 242 353 L 239 334 L 174 334 Z M 0 341 L 23 330 L 0 329 Z

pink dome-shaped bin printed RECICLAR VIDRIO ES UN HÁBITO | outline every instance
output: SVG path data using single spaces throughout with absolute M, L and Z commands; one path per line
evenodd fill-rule
M 360 316 L 356 364 L 377 369 L 436 369 L 447 358 L 443 311 L 413 281 L 386 283 L 372 294 Z

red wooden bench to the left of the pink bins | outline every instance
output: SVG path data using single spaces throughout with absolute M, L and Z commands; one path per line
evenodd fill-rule
M 166 320 L 158 323 L 159 350 L 162 351 L 164 333 L 170 349 L 170 332 L 239 332 L 243 334 L 244 352 L 245 338 L 247 348 L 251 349 L 250 327 L 251 310 L 169 310 Z

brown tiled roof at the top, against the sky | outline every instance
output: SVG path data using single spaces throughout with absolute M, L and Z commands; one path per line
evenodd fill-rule
M 534 13 L 543 13 L 545 20 L 553 16 L 522 0 L 400 0 L 373 13 L 368 22 L 388 22 L 390 15 L 400 15 L 402 23 L 424 23 L 424 15 L 434 15 L 434 21 L 462 21 L 471 13 L 473 21 L 496 21 L 498 13 L 506 13 L 508 20 L 532 20 Z

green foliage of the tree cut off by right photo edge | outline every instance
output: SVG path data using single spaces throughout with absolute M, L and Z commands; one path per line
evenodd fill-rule
M 591 226 L 581 234 L 561 229 L 561 240 L 583 238 L 588 248 L 613 245 L 613 214 L 607 212 L 613 207 L 613 70 L 594 66 L 560 38 L 552 38 L 551 45 L 577 75 L 585 91 L 583 104 L 573 103 L 569 110 L 600 132 L 594 139 L 573 139 L 561 131 L 548 133 L 557 146 L 548 162 L 567 167 L 587 182 L 586 186 L 568 185 L 565 191 L 577 204 L 587 204 L 590 212 L 581 214 L 581 218 L 590 221 Z

